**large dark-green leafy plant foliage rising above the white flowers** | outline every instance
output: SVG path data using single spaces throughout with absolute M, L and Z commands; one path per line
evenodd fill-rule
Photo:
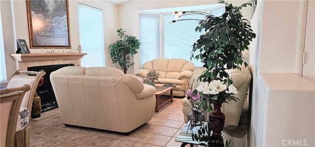
M 252 3 L 249 1 L 241 6 L 233 6 L 224 0 L 219 0 L 219 3 L 225 4 L 225 12 L 221 16 L 209 14 L 199 21 L 195 30 L 200 32 L 204 29 L 206 33 L 193 44 L 191 58 L 201 59 L 206 68 L 198 78 L 199 81 L 210 83 L 212 80 L 220 80 L 230 85 L 232 80 L 226 69 L 240 69 L 243 63 L 248 66 L 243 60 L 242 52 L 248 50 L 248 45 L 256 34 L 240 10 L 247 5 L 252 6 Z M 194 56 L 196 51 L 200 53 Z

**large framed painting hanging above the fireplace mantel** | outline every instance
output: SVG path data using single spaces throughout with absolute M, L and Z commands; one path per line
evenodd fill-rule
M 31 48 L 71 48 L 68 0 L 26 0 Z

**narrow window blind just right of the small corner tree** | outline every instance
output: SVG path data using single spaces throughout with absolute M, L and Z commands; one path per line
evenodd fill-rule
M 139 15 L 140 65 L 159 57 L 159 16 Z

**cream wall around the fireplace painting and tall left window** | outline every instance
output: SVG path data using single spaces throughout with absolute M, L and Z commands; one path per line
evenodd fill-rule
M 78 26 L 78 3 L 86 4 L 103 10 L 105 43 L 104 50 L 106 58 L 105 62 L 106 66 L 112 66 L 109 45 L 117 40 L 116 37 L 113 36 L 117 35 L 116 30 L 119 28 L 118 6 L 103 0 L 68 0 L 68 2 L 71 49 L 76 49 L 80 44 Z M 15 53 L 17 49 L 16 39 L 25 39 L 28 43 L 28 46 L 30 47 L 27 8 L 25 0 L 0 0 L 0 5 L 7 77 L 9 78 L 15 71 L 14 60 L 9 56 L 9 54 Z M 85 48 L 88 47 L 82 47 L 83 53 Z M 65 50 L 66 52 L 71 52 L 71 49 Z M 40 49 L 31 48 L 30 51 L 31 53 L 41 53 Z M 44 49 L 44 52 L 49 53 L 50 49 Z M 62 53 L 62 49 L 56 49 L 56 52 Z

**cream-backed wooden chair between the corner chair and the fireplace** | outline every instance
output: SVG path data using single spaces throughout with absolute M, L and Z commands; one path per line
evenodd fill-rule
M 34 94 L 35 94 L 38 82 L 40 78 L 44 76 L 45 74 L 46 74 L 45 71 L 36 72 L 36 71 L 17 70 L 14 72 L 14 74 L 12 75 L 12 77 L 10 78 L 8 82 L 7 88 L 20 87 L 24 84 L 28 84 L 31 86 L 31 90 L 26 92 L 22 100 L 22 104 L 21 104 L 21 107 L 29 109 L 29 118 L 31 118 L 32 103 L 33 103 L 33 98 L 34 98 Z M 30 146 L 29 124 L 23 130 L 16 132 L 15 144 L 17 147 Z

